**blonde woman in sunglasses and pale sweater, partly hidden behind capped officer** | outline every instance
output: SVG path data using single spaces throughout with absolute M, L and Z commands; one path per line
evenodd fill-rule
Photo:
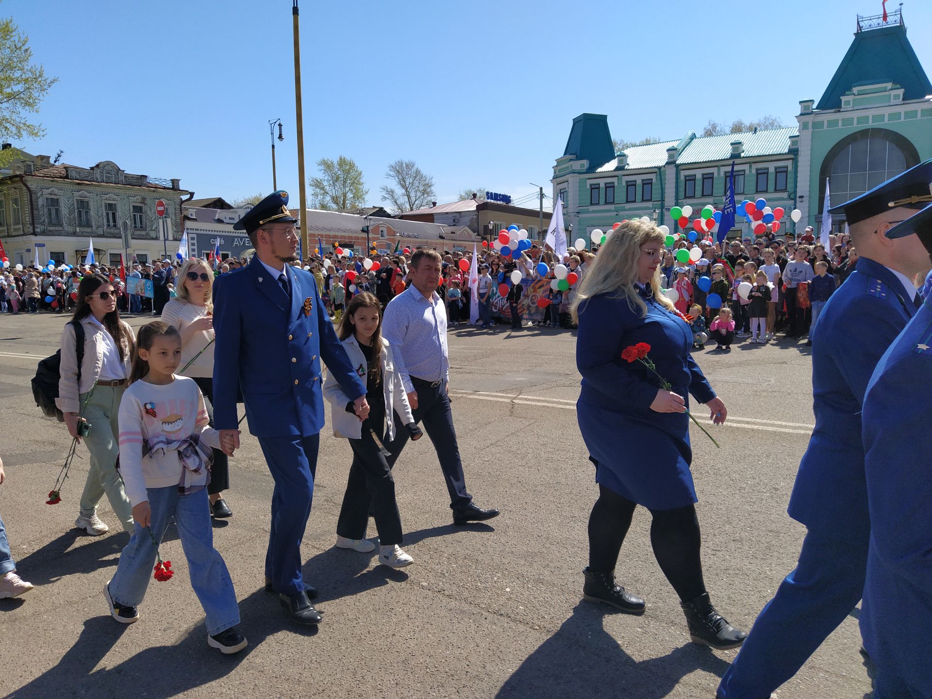
M 165 304 L 161 320 L 177 328 L 181 334 L 181 370 L 178 374 L 191 377 L 198 384 L 206 399 L 213 427 L 213 272 L 204 260 L 192 257 L 178 270 L 177 280 L 177 297 Z M 211 514 L 217 519 L 233 516 L 222 497 L 228 487 L 226 454 L 214 449 L 207 494 L 211 500 Z

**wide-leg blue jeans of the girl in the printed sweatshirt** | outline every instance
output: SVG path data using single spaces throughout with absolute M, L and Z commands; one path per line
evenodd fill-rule
M 200 600 L 207 617 L 207 633 L 216 636 L 240 623 L 240 606 L 236 601 L 233 581 L 223 557 L 213 548 L 211 511 L 207 488 L 188 495 L 179 495 L 177 486 L 146 488 L 152 523 L 149 530 L 137 523 L 130 543 L 119 556 L 119 566 L 110 581 L 110 596 L 115 602 L 137 607 L 143 601 L 145 589 L 156 565 L 156 541 L 162 541 L 171 517 L 178 525 L 178 535 L 185 550 L 191 587 Z M 162 559 L 171 560 L 163 550 Z

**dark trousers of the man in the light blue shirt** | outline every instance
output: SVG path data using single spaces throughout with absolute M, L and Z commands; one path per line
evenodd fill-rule
M 466 491 L 466 476 L 463 475 L 463 464 L 459 460 L 459 445 L 457 433 L 453 429 L 453 411 L 450 409 L 450 399 L 446 395 L 443 382 L 431 387 L 429 381 L 411 377 L 414 390 L 418 391 L 418 407 L 412 412 L 415 424 L 424 423 L 424 432 L 431 438 L 437 459 L 440 460 L 440 469 L 444 472 L 446 489 L 450 493 L 450 508 L 461 510 L 469 506 L 473 496 Z M 410 435 L 404 429 L 404 419 L 395 413 L 395 424 L 399 426 L 391 444 L 385 445 L 391 452 L 388 458 L 392 468 L 395 461 L 401 456 L 402 449 Z

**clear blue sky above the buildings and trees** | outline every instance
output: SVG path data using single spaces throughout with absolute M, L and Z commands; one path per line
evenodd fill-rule
M 179 177 L 196 197 L 271 191 L 267 121 L 281 117 L 279 186 L 297 204 L 291 0 L 6 0 L 59 83 L 28 152 Z M 396 158 L 437 199 L 544 185 L 573 117 L 612 135 L 679 138 L 710 119 L 795 124 L 880 0 L 300 0 L 305 152 L 346 155 L 369 202 Z M 896 9 L 896 2 L 888 2 Z M 932 3 L 903 7 L 932 72 Z M 733 62 L 733 68 L 730 68 Z

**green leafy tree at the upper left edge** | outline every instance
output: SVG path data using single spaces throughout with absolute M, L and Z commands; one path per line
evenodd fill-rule
M 0 137 L 4 141 L 42 138 L 45 130 L 26 114 L 38 112 L 39 103 L 56 82 L 57 77 L 46 77 L 42 65 L 33 63 L 29 37 L 12 20 L 0 20 Z M 0 160 L 7 162 L 19 157 L 15 148 L 0 154 Z

